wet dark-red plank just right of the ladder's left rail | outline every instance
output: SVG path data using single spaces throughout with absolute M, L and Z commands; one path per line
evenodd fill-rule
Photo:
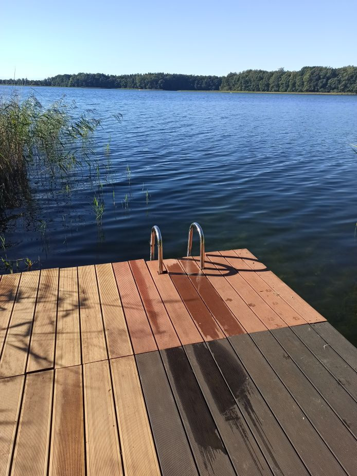
M 179 262 L 176 259 L 165 259 L 164 263 L 177 292 L 179 292 L 193 321 L 200 329 L 204 340 L 222 339 L 224 337 L 223 331 L 202 302 L 199 293 L 183 272 Z

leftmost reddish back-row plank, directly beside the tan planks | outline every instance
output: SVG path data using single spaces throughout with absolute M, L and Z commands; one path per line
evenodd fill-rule
M 113 263 L 113 269 L 135 354 L 157 350 L 129 263 Z

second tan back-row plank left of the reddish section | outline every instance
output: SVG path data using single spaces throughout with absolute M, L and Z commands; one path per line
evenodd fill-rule
M 78 268 L 82 362 L 108 358 L 94 266 Z

